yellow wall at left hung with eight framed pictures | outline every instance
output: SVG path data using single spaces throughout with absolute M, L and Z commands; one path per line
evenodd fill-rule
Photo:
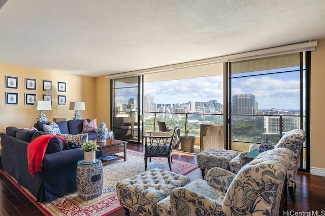
M 5 76 L 18 77 L 18 90 L 6 89 Z M 52 72 L 34 68 L 26 68 L 0 64 L 0 129 L 7 126 L 30 127 L 34 125 L 40 115 L 40 111 L 32 105 L 25 105 L 25 93 L 36 94 L 37 100 L 42 100 L 42 94 L 52 94 L 52 110 L 45 111 L 50 121 L 54 117 L 66 117 L 67 120 L 74 117 L 74 110 L 69 110 L 71 101 L 84 101 L 86 110 L 80 111 L 81 118 L 93 119 L 96 117 L 96 93 L 93 77 L 79 76 L 68 73 Z M 25 78 L 37 79 L 36 91 L 25 90 Z M 52 80 L 52 92 L 42 91 L 42 79 Z M 66 93 L 57 92 L 57 81 L 67 83 Z M 6 92 L 18 93 L 18 105 L 5 105 Z M 67 105 L 57 105 L 57 95 L 67 96 Z

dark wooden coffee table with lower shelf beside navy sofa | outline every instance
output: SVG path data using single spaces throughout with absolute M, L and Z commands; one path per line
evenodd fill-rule
M 107 139 L 106 143 L 99 143 L 97 142 L 99 146 L 103 149 L 103 156 L 110 155 L 110 154 L 116 154 L 119 152 L 124 152 L 124 156 L 118 156 L 117 158 L 111 159 L 111 160 L 102 160 L 103 164 L 109 163 L 115 160 L 121 160 L 124 159 L 126 161 L 126 144 L 127 141 L 124 140 L 114 140 L 114 139 Z

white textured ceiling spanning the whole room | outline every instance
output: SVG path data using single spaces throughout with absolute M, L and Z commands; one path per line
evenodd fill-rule
M 325 0 L 10 0 L 0 29 L 0 63 L 96 77 L 324 39 Z

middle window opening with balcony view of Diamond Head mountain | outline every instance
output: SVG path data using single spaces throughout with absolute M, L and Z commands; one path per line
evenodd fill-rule
M 179 125 L 200 137 L 201 124 L 223 124 L 223 64 L 214 63 L 144 75 L 144 132 Z

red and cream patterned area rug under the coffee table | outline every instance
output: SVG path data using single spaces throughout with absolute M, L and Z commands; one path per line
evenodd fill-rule
M 144 154 L 142 152 L 127 150 L 126 161 L 118 160 L 105 164 L 103 166 L 104 183 L 102 196 L 88 201 L 80 199 L 77 193 L 72 193 L 51 202 L 39 203 L 36 202 L 35 197 L 26 189 L 20 187 L 17 183 L 15 183 L 15 185 L 17 185 L 17 187 L 20 188 L 20 190 L 46 215 L 109 215 L 122 207 L 116 196 L 116 182 L 145 171 L 143 158 Z M 170 170 L 167 158 L 152 158 L 151 162 L 148 161 L 147 170 L 151 168 Z M 173 159 L 172 171 L 177 174 L 186 175 L 197 168 L 198 164 Z

